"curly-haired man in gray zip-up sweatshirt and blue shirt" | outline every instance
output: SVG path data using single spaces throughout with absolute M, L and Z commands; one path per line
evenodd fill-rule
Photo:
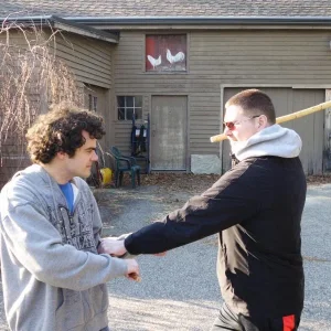
M 102 218 L 82 178 L 90 174 L 104 135 L 98 115 L 67 105 L 41 115 L 28 131 L 34 164 L 1 191 L 1 271 L 10 330 L 109 330 L 106 282 L 139 275 L 135 259 L 97 250 Z

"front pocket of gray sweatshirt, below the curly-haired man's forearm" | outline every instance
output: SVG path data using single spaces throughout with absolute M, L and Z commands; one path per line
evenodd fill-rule
M 71 330 L 82 325 L 84 321 L 84 306 L 82 292 L 70 289 L 61 289 L 63 301 L 55 312 L 56 331 Z

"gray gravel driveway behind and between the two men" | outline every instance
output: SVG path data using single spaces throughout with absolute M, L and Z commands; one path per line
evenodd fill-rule
M 140 186 L 95 192 L 104 235 L 132 232 L 181 206 L 197 192 Z M 309 186 L 302 221 L 306 301 L 299 330 L 331 330 L 331 184 Z M 108 282 L 114 331 L 209 330 L 222 305 L 216 279 L 216 236 L 168 252 L 139 256 L 141 282 Z M 0 292 L 0 330 L 8 330 Z M 30 331 L 30 330 L 29 330 Z

